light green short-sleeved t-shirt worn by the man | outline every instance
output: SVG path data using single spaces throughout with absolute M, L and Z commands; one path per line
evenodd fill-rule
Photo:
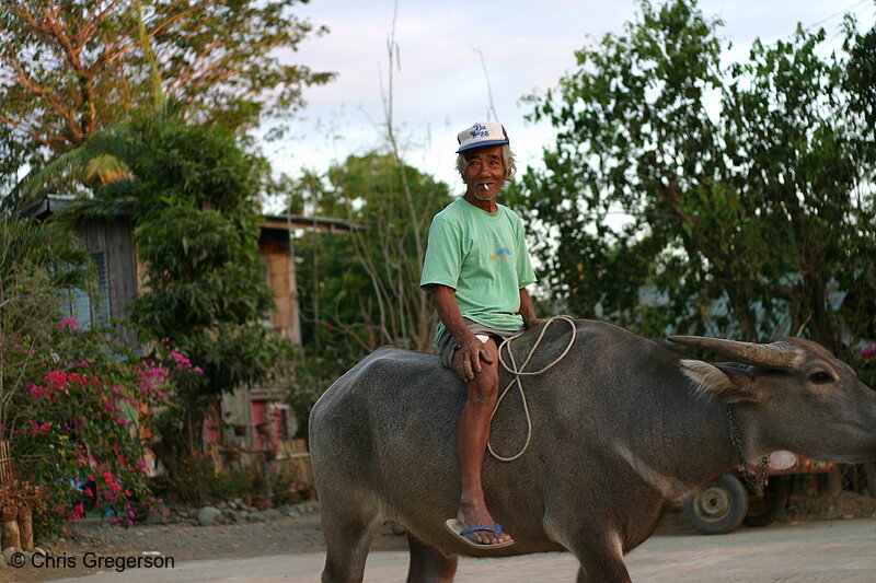
M 535 281 L 529 261 L 523 223 L 512 210 L 497 205 L 487 212 L 463 198 L 435 215 L 419 285 L 434 283 L 457 291 L 463 317 L 499 330 L 523 325 L 520 289 Z M 438 324 L 436 343 L 445 325 Z

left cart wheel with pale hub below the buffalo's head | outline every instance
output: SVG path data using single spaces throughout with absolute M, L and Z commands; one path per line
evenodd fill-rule
M 681 510 L 704 535 L 723 535 L 742 524 L 748 492 L 736 476 L 725 474 L 684 499 Z

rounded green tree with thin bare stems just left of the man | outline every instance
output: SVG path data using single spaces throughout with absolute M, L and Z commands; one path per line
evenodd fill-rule
M 411 166 L 405 167 L 413 206 L 418 220 L 412 222 L 406 203 L 406 193 L 401 170 L 391 154 L 351 155 L 343 166 L 330 168 L 327 188 L 320 193 L 320 207 L 364 226 L 349 235 L 310 235 L 319 238 L 319 288 L 303 285 L 304 290 L 319 289 L 320 295 L 331 299 L 333 306 L 321 310 L 320 318 L 333 326 L 361 326 L 357 336 L 360 349 L 369 351 L 381 343 L 427 351 L 433 345 L 435 314 L 428 298 L 419 289 L 423 268 L 415 241 L 425 238 L 428 222 L 449 201 L 447 186 L 436 183 Z M 346 253 L 332 248 L 327 240 L 345 246 Z M 304 244 L 307 245 L 307 244 Z M 307 247 L 304 247 L 307 248 Z M 327 253 L 326 253 L 327 252 Z M 328 254 L 348 257 L 346 265 L 337 265 L 334 273 Z M 355 275 L 355 276 L 354 276 Z M 342 277 L 338 281 L 334 278 Z M 355 277 L 342 285 L 343 278 Z M 336 285 L 336 289 L 326 289 Z M 351 290 L 362 293 L 350 294 Z M 367 291 L 366 291 L 367 290 Z M 345 306 L 342 302 L 348 299 Z M 314 298 L 315 300 L 315 298 Z M 428 310 L 424 310 L 423 305 Z M 343 306 L 343 307 L 342 307 Z M 339 310 L 348 310 L 346 313 Z

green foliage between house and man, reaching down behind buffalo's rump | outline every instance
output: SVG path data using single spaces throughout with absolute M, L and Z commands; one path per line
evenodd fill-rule
M 431 349 L 437 318 L 419 276 L 431 218 L 448 202 L 445 184 L 390 154 L 349 156 L 298 183 L 295 211 L 361 226 L 296 242 L 304 357 L 290 403 L 301 434 L 316 397 L 379 346 Z

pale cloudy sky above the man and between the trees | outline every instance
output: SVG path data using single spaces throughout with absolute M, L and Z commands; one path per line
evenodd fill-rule
M 405 161 L 462 194 L 456 136 L 475 121 L 505 125 L 518 168 L 539 166 L 554 131 L 525 120 L 529 94 L 543 93 L 575 67 L 575 51 L 623 33 L 636 0 L 310 0 L 296 14 L 330 32 L 306 39 L 292 62 L 337 78 L 304 92 L 307 106 L 280 141 L 264 142 L 276 172 L 324 171 L 349 154 L 385 147 L 388 42 L 395 24 L 392 119 Z M 873 0 L 701 0 L 724 21 L 718 35 L 744 59 L 754 38 L 793 35 L 797 23 L 823 26 L 837 48 L 845 12 L 862 30 L 876 21 Z M 397 12 L 396 12 L 397 11 Z M 492 106 L 492 107 L 491 107 Z M 264 130 L 267 130 L 265 127 Z

